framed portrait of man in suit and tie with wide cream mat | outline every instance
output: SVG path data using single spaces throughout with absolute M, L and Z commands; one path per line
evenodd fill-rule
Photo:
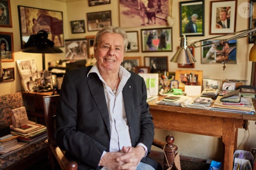
M 236 31 L 237 0 L 210 2 L 210 34 Z

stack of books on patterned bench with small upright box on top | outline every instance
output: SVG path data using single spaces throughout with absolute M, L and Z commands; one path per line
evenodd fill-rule
M 46 127 L 44 125 L 29 121 L 28 124 L 22 127 L 10 126 L 11 134 L 18 136 L 20 141 L 28 142 L 30 144 L 47 138 Z

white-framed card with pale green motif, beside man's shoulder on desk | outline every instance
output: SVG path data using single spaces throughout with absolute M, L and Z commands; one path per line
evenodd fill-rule
M 147 94 L 157 96 L 158 95 L 158 81 L 159 76 L 157 73 L 139 73 L 142 76 L 147 87 Z

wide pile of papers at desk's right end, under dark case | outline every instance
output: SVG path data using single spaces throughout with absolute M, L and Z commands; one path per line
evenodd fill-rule
M 244 114 L 254 114 L 255 112 L 255 108 L 252 104 L 252 98 L 241 97 L 240 103 L 244 105 L 228 105 L 226 103 L 223 104 L 223 102 L 220 101 L 221 98 L 221 96 L 216 98 L 211 110 Z

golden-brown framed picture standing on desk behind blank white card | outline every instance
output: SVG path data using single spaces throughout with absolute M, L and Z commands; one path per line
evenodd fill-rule
M 179 82 L 179 89 L 185 90 L 186 85 L 190 85 L 188 83 L 188 75 L 194 73 L 196 78 L 196 85 L 201 86 L 203 85 L 203 70 L 176 70 L 175 71 L 175 80 Z

